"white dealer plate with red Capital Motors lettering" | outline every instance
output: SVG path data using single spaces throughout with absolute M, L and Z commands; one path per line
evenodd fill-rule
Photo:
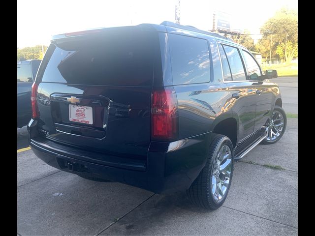
M 84 124 L 93 124 L 93 108 L 69 105 L 69 120 Z

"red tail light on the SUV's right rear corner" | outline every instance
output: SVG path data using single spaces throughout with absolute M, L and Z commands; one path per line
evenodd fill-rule
M 171 87 L 152 92 L 151 136 L 153 140 L 173 140 L 178 137 L 178 104 Z

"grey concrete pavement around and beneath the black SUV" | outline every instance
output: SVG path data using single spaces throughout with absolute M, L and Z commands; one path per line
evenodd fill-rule
M 283 107 L 297 114 L 297 77 L 280 85 Z M 215 211 L 185 193 L 159 195 L 121 183 L 94 182 L 18 151 L 18 235 L 297 235 L 297 118 L 283 138 L 258 145 L 235 163 L 227 199 Z M 18 136 L 18 149 L 26 148 Z

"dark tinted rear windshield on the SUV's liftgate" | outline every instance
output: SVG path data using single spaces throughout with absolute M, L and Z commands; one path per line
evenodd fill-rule
M 44 59 L 49 61 L 41 81 L 152 86 L 152 37 L 152 33 L 148 32 L 108 32 L 103 36 L 52 44 L 47 51 L 47 58 Z

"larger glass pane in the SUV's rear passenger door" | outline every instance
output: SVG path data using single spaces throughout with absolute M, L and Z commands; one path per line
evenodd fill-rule
M 222 45 L 230 65 L 232 80 L 246 80 L 243 63 L 237 48 Z

